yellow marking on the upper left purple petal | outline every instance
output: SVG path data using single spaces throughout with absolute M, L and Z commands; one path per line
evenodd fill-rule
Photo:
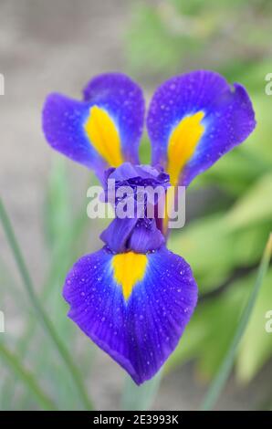
M 92 106 L 84 129 L 92 146 L 99 155 L 112 167 L 119 167 L 123 162 L 120 136 L 115 123 L 106 110 Z

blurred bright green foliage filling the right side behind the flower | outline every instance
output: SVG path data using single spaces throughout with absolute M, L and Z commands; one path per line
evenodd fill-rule
M 137 2 L 127 37 L 129 68 L 150 83 L 192 68 L 211 68 L 246 86 L 256 110 L 256 131 L 198 177 L 187 203 L 214 186 L 209 206 L 195 210 L 169 246 L 185 257 L 199 285 L 200 300 L 177 350 L 171 371 L 194 359 L 199 375 L 214 376 L 231 343 L 272 229 L 272 96 L 265 92 L 272 72 L 272 3 L 258 0 Z M 144 140 L 141 152 L 147 158 Z M 212 206 L 212 210 L 210 208 Z M 239 349 L 235 371 L 249 382 L 272 358 L 265 314 L 272 309 L 272 271 Z

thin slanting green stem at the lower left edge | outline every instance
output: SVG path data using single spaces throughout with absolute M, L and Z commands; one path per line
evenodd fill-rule
M 16 240 L 16 235 L 14 233 L 9 217 L 5 211 L 5 206 L 1 199 L 0 199 L 0 218 L 5 230 L 5 235 L 7 237 L 8 243 L 11 246 L 11 249 L 15 256 L 16 264 L 20 271 L 21 277 L 23 279 L 26 292 L 33 304 L 33 307 L 37 311 L 37 316 L 41 319 L 41 322 L 43 323 L 45 329 L 47 330 L 47 334 L 51 337 L 51 340 L 55 343 L 55 346 L 58 349 L 59 355 L 66 363 L 68 370 L 75 384 L 78 387 L 78 393 L 86 409 L 92 410 L 93 409 L 92 403 L 89 400 L 88 393 L 85 390 L 85 386 L 81 380 L 81 376 L 78 372 L 78 368 L 74 364 L 72 358 L 70 357 L 66 346 L 63 344 L 62 340 L 60 340 L 60 338 L 58 337 L 58 332 L 55 330 L 51 320 L 47 317 L 46 310 L 43 308 L 43 306 L 39 302 L 39 299 L 37 298 L 35 288 L 32 283 L 32 279 L 28 273 L 24 257 L 22 255 L 22 252 Z

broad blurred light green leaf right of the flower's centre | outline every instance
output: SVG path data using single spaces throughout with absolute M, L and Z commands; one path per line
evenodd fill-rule
M 169 248 L 191 265 L 201 294 L 224 284 L 236 269 L 258 263 L 271 229 L 271 184 L 267 174 L 228 212 L 195 219 L 170 235 Z

